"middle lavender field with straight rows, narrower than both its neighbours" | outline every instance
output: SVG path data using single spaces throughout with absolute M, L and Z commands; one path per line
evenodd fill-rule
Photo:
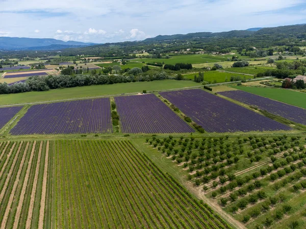
M 194 130 L 154 94 L 115 97 L 123 133 L 190 133 Z

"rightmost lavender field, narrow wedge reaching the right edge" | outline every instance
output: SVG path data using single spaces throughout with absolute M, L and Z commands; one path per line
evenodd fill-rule
M 251 106 L 256 106 L 273 115 L 281 116 L 293 122 L 306 125 L 306 109 L 244 91 L 219 92 L 219 94 Z

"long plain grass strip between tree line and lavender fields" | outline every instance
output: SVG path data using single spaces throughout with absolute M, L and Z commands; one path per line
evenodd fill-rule
M 122 93 L 137 93 L 142 90 L 159 91 L 199 86 L 199 83 L 185 80 L 157 80 L 145 82 L 116 83 L 111 85 L 91 85 L 77 88 L 49 90 L 47 92 L 26 92 L 0 95 L 0 105 L 31 103 L 49 100 L 64 100 L 81 97 L 105 96 Z

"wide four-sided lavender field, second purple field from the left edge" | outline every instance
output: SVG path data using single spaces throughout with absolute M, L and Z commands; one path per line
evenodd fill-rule
M 100 98 L 33 105 L 11 130 L 11 134 L 111 133 L 112 131 L 109 98 Z

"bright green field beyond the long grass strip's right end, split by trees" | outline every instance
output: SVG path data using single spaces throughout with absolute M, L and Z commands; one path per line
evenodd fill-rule
M 184 75 L 184 78 L 194 79 L 194 75 L 198 76 L 198 73 L 186 74 Z M 242 74 L 237 74 L 237 73 L 208 71 L 208 72 L 204 72 L 204 81 L 207 81 L 210 83 L 229 82 L 231 79 L 231 76 L 240 77 L 240 78 L 245 77 L 246 79 L 252 78 L 252 76 L 242 75 Z

